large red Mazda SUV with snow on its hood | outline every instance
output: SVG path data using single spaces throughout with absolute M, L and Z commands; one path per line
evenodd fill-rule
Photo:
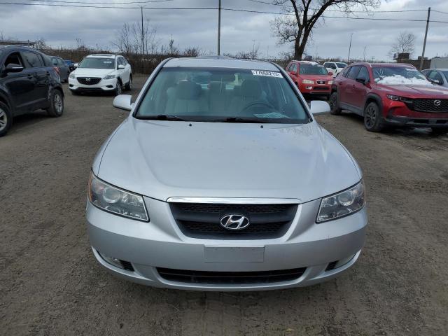
M 431 84 L 409 64 L 347 66 L 333 82 L 330 106 L 332 114 L 344 109 L 363 116 L 368 131 L 397 125 L 448 132 L 448 89 Z

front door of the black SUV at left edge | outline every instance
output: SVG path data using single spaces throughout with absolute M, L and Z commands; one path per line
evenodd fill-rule
M 20 72 L 6 73 L 8 64 L 18 64 L 24 69 Z M 13 104 L 13 113 L 18 115 L 27 112 L 34 104 L 34 90 L 36 80 L 34 79 L 33 69 L 26 67 L 20 52 L 10 52 L 6 56 L 5 62 L 1 64 L 1 80 L 10 93 L 10 99 Z

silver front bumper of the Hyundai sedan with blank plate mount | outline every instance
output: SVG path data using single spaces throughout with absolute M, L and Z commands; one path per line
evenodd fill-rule
M 109 214 L 87 202 L 87 229 L 94 256 L 102 266 L 123 279 L 148 286 L 189 290 L 268 290 L 309 286 L 332 279 L 351 267 L 365 240 L 365 208 L 351 216 L 316 224 L 320 200 L 300 204 L 283 237 L 254 240 L 186 237 L 179 230 L 167 202 L 148 197 L 145 202 L 151 218 L 149 223 Z M 111 265 L 100 253 L 130 262 L 134 271 Z M 325 270 L 331 262 L 343 259 L 347 260 L 344 265 Z M 223 284 L 171 281 L 160 276 L 158 267 L 207 272 L 306 269 L 297 279 L 288 281 Z

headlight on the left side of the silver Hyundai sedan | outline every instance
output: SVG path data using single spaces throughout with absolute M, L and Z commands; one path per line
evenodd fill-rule
M 111 186 L 93 173 L 90 173 L 88 194 L 89 201 L 99 209 L 139 221 L 149 221 L 141 195 Z

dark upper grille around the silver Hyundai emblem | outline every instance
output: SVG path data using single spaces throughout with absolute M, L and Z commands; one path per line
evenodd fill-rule
M 270 239 L 286 233 L 297 204 L 170 203 L 172 214 L 184 235 L 203 239 Z M 220 225 L 228 214 L 246 216 L 251 225 L 227 230 Z

